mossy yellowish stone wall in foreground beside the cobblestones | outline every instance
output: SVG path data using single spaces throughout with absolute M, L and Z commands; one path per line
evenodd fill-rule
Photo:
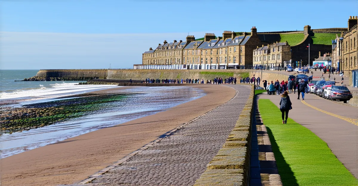
M 223 147 L 208 163 L 194 186 L 244 186 L 250 182 L 251 124 L 254 86 Z

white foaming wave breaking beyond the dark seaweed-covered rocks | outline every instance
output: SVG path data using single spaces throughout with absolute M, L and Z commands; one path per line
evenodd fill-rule
M 50 87 L 41 87 L 41 88 L 25 88 L 18 89 L 12 92 L 0 92 L 0 99 L 18 99 L 18 98 L 28 98 L 37 99 L 39 96 L 46 97 L 59 97 L 67 95 L 68 93 L 84 93 L 88 91 L 106 89 L 115 87 L 116 85 L 76 85 L 78 83 L 55 83 L 50 84 Z

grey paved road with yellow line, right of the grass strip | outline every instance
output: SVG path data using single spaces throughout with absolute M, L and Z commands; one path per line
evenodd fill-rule
M 345 167 L 358 178 L 358 108 L 334 103 L 314 94 L 305 100 L 290 94 L 292 110 L 289 117 L 323 139 Z M 280 96 L 261 94 L 279 106 Z

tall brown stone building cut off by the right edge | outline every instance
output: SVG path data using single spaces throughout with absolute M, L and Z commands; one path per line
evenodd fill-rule
M 344 76 L 348 77 L 349 85 L 358 86 L 358 19 L 350 16 L 348 19 L 348 31 L 343 34 L 342 66 Z

